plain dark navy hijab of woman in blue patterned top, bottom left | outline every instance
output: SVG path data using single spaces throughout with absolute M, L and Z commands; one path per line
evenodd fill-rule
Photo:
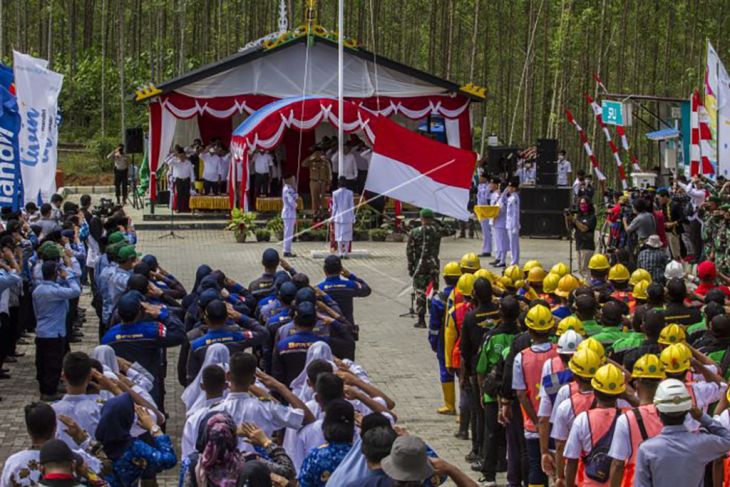
M 130 430 L 134 425 L 134 401 L 128 393 L 109 399 L 101 408 L 96 427 L 96 439 L 110 460 L 121 457 L 132 443 Z

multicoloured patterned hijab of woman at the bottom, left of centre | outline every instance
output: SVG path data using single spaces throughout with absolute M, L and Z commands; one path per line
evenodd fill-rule
M 195 466 L 198 485 L 234 487 L 245 460 L 238 451 L 233 418 L 228 413 L 216 413 L 206 421 L 204 430 L 204 446 Z

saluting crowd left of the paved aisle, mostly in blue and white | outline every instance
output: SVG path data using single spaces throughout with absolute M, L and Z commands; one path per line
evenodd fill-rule
M 35 334 L 40 401 L 24 408 L 30 446 L 0 486 L 158 485 L 173 468 L 181 486 L 476 485 L 399 426 L 355 362 L 354 300 L 371 291 L 337 255 L 318 283 L 267 249 L 248 285 L 200 265 L 186 289 L 137 251 L 109 201 L 59 196 L 2 217 L 3 358 Z M 92 313 L 99 344 L 86 353 L 75 344 Z M 184 387 L 179 445 L 168 372 Z

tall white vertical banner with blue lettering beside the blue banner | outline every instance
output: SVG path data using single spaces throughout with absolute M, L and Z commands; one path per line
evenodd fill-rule
M 56 191 L 58 95 L 63 75 L 47 68 L 48 61 L 13 51 L 25 202 L 48 201 Z

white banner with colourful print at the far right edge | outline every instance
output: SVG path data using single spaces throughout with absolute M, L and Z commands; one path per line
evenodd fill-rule
M 712 151 L 707 156 L 710 163 L 718 168 L 718 174 L 728 177 L 730 176 L 730 76 L 709 41 L 704 105 L 712 132 L 710 141 Z

